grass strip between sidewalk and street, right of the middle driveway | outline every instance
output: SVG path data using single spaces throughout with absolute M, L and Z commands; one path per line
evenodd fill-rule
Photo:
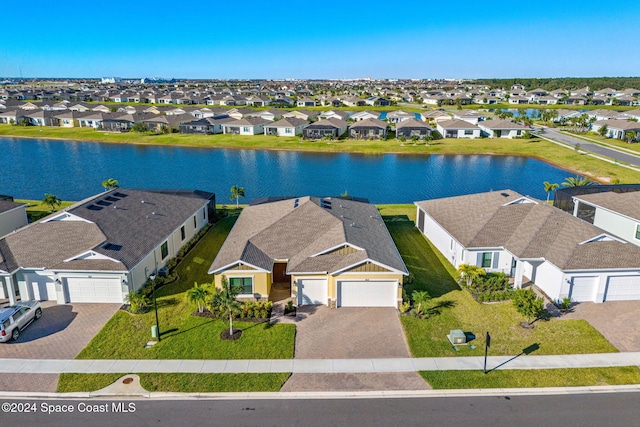
M 619 368 L 421 371 L 420 375 L 434 389 L 580 387 L 640 384 L 637 366 Z

